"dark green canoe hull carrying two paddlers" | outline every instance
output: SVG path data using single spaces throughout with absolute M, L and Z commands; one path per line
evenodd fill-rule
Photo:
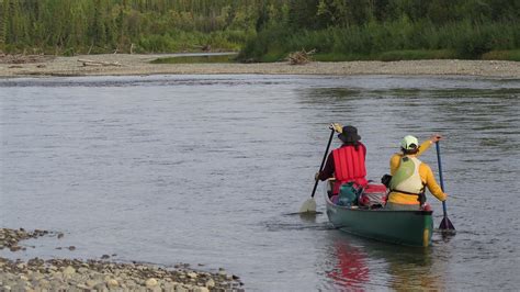
M 429 246 L 433 231 L 432 211 L 389 211 L 346 207 L 325 194 L 332 225 L 359 236 L 408 246 Z

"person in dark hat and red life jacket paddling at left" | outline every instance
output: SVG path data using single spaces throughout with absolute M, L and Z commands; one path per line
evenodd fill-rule
M 360 142 L 361 136 L 358 135 L 358 128 L 354 126 L 341 127 L 338 123 L 332 126 L 336 132 L 339 132 L 338 138 L 343 145 L 329 154 L 324 169 L 316 173 L 316 179 L 326 180 L 335 177 L 332 194 L 337 194 L 341 184 L 350 181 L 365 187 L 368 184 L 364 165 L 366 147 Z

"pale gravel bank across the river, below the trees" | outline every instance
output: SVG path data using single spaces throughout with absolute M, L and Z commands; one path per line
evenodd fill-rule
M 49 76 L 135 75 L 431 75 L 520 78 L 520 63 L 507 60 L 400 60 L 400 61 L 313 61 L 262 64 L 150 64 L 168 55 L 102 54 L 42 58 L 35 63 L 0 63 L 0 78 Z M 78 60 L 89 60 L 87 63 Z M 112 64 L 112 65 L 109 65 Z M 106 66 L 105 66 L 106 65 Z M 121 65 L 121 66 L 118 66 Z

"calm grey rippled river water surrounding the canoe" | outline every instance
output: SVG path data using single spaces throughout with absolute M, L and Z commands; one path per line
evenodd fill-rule
M 1 256 L 223 267 L 248 291 L 516 290 L 519 98 L 518 79 L 475 77 L 3 79 L 0 225 L 65 237 Z M 457 234 L 400 247 L 291 215 L 330 122 L 359 128 L 377 181 L 404 135 L 443 134 Z M 438 173 L 434 147 L 422 160 Z M 438 226 L 441 204 L 428 200 Z

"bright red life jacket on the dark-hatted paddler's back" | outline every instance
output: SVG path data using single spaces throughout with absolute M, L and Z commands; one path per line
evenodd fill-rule
M 360 143 L 358 150 L 354 146 L 343 146 L 332 150 L 336 182 L 332 193 L 338 193 L 341 184 L 354 181 L 359 186 L 366 186 L 366 168 L 364 156 L 366 148 Z

